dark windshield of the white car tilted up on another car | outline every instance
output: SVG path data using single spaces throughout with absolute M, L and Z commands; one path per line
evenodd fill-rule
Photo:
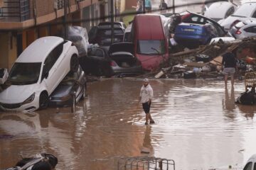
M 14 85 L 35 84 L 38 81 L 41 62 L 16 62 L 8 80 Z

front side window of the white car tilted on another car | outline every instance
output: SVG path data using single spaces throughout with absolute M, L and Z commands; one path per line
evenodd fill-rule
M 46 60 L 43 64 L 43 74 L 50 71 L 50 69 L 53 67 L 55 62 L 58 60 L 58 57 L 60 57 L 61 53 L 63 52 L 63 44 L 65 42 L 60 43 L 57 47 L 55 47 L 49 55 L 46 57 Z

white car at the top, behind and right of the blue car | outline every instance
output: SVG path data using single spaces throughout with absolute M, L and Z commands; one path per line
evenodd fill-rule
M 235 12 L 237 6 L 228 1 L 218 1 L 210 5 L 210 7 L 204 13 L 204 16 L 211 18 L 214 21 L 220 21 L 227 18 Z

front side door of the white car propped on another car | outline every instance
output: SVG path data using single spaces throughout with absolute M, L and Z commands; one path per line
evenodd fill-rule
M 46 60 L 43 63 L 43 74 L 42 81 L 45 82 L 47 86 L 48 94 L 50 95 L 56 86 L 58 86 L 59 75 L 56 74 L 57 69 L 55 62 L 60 57 L 63 52 L 63 42 L 60 45 L 57 45 L 46 57 Z

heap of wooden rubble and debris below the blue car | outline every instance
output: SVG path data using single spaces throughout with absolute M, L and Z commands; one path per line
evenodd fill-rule
M 238 77 L 245 72 L 255 71 L 256 38 L 233 40 L 231 42 L 219 41 L 210 45 L 203 45 L 193 50 L 183 50 L 169 56 L 169 61 L 161 64 L 159 69 L 146 73 L 140 77 L 159 78 L 215 78 L 223 77 L 222 55 L 230 47 L 238 58 Z M 163 67 L 165 66 L 165 67 Z

